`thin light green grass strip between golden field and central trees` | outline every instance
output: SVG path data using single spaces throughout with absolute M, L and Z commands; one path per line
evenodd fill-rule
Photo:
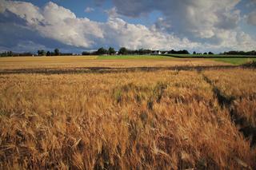
M 158 56 L 158 55 L 119 55 L 119 56 L 98 56 L 98 60 L 161 60 L 161 59 L 172 59 L 173 57 Z

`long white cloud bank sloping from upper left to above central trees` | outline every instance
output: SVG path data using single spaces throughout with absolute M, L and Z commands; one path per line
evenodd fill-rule
M 130 49 L 186 48 L 188 43 L 193 46 L 193 43 L 186 38 L 181 40 L 174 35 L 163 34 L 146 26 L 129 24 L 117 18 L 114 9 L 109 10 L 110 16 L 107 22 L 93 22 L 88 18 L 76 18 L 70 10 L 53 2 L 47 3 L 42 9 L 28 2 L 15 3 L 15 6 L 12 6 L 11 2 L 8 3 L 6 10 L 24 19 L 30 30 L 38 31 L 42 37 L 52 38 L 66 45 L 84 48 L 113 45 L 115 47 L 126 46 Z M 33 9 L 31 10 L 33 12 L 24 14 L 22 10 L 15 10 L 23 6 L 28 6 Z M 30 22 L 30 18 L 33 18 L 34 22 Z

